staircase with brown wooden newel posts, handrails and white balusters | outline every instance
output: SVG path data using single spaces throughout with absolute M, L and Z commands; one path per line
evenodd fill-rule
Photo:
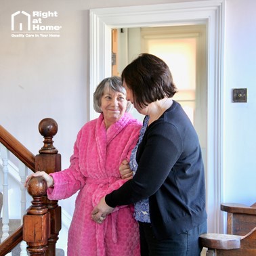
M 0 125 L 0 162 L 3 174 L 3 180 L 1 179 L 0 184 L 0 189 L 3 188 L 3 194 L 0 192 L 0 217 L 3 217 L 3 219 L 0 218 L 0 239 L 3 232 L 5 232 L 2 229 L 2 227 L 5 227 L 3 223 L 6 223 L 8 228 L 8 232 L 5 232 L 7 238 L 1 241 L 0 244 L 1 256 L 6 255 L 8 251 L 12 251 L 14 256 L 26 255 L 26 252 L 28 255 L 35 255 L 35 253 L 42 256 L 46 253 L 47 255 L 65 255 L 64 250 L 56 249 L 56 242 L 61 229 L 61 207 L 58 206 L 58 201 L 48 200 L 45 196 L 46 186 L 42 192 L 38 192 L 37 186 L 41 184 L 37 184 L 39 182 L 37 178 L 35 184 L 31 184 L 28 192 L 33 198 L 32 205 L 29 208 L 26 206 L 26 198 L 24 199 L 24 179 L 28 169 L 35 172 L 43 168 L 48 173 L 60 170 L 60 154 L 53 146 L 52 140 L 57 131 L 58 125 L 53 119 L 43 119 L 39 123 L 39 132 L 44 137 L 44 145 L 39 150 L 39 154 L 34 156 Z M 20 219 L 9 219 L 9 207 L 6 207 L 6 203 L 15 204 L 14 198 L 12 198 L 12 202 L 8 200 L 8 177 L 13 174 L 12 171 L 9 173 L 9 155 L 11 153 L 19 161 L 20 182 L 18 182 L 18 186 L 22 192 L 20 204 L 22 206 L 21 216 L 24 214 L 23 227 Z M 45 180 L 42 182 L 45 182 Z M 22 237 L 26 242 L 22 242 Z M 22 253 L 20 253 L 19 242 L 22 242 Z

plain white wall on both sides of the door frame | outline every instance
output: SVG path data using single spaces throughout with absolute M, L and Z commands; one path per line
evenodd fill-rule
M 0 124 L 37 154 L 38 123 L 54 118 L 54 144 L 68 167 L 77 131 L 89 119 L 89 9 L 171 2 L 177 1 L 0 0 Z M 255 0 L 226 1 L 223 201 L 249 205 L 256 194 L 255 9 Z M 50 22 L 62 26 L 60 37 L 12 37 L 11 15 L 19 10 L 58 12 Z M 232 103 L 232 89 L 243 87 L 248 102 Z M 60 201 L 70 215 L 74 197 Z

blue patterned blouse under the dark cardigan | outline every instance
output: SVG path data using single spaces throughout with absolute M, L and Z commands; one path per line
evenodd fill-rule
M 136 153 L 137 153 L 137 147 L 140 145 L 140 142 L 142 142 L 142 138 L 144 136 L 144 133 L 148 127 L 148 121 L 150 117 L 145 116 L 143 127 L 140 130 L 140 137 L 139 140 L 131 151 L 131 158 L 130 158 L 130 168 L 133 171 L 133 176 L 135 175 L 135 172 L 137 171 L 137 161 L 136 161 Z M 135 202 L 135 213 L 134 217 L 137 221 L 141 222 L 148 222 L 150 223 L 150 213 L 149 213 L 149 201 L 148 198 L 144 200 L 140 200 L 139 202 Z

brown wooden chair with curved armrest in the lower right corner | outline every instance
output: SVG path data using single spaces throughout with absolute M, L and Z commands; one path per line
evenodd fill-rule
M 228 213 L 227 233 L 200 235 L 202 247 L 208 248 L 207 256 L 256 255 L 256 203 L 247 205 L 226 203 L 221 210 Z

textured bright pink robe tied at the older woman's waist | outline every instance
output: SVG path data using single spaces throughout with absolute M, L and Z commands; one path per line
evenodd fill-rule
M 91 211 L 102 196 L 119 188 L 119 166 L 131 156 L 141 123 L 125 115 L 106 130 L 103 115 L 86 123 L 77 135 L 70 167 L 51 174 L 51 200 L 72 196 L 78 190 L 74 215 L 68 232 L 68 256 L 140 255 L 138 225 L 133 206 L 116 207 L 104 223 L 91 220 Z

